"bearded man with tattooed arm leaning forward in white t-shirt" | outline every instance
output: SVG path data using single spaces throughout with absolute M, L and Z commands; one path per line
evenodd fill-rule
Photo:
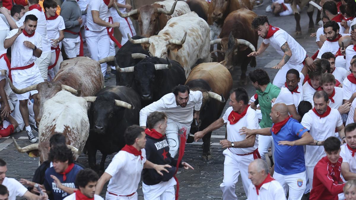
M 313 59 L 307 56 L 304 48 L 286 31 L 270 25 L 267 16 L 259 15 L 255 17 L 252 21 L 252 28 L 263 38 L 263 42 L 260 48 L 250 53 L 248 57 L 262 54 L 269 44 L 276 49 L 277 53 L 283 56 L 281 62 L 272 67 L 272 69 L 279 69 L 276 77 L 274 77 L 273 85 L 282 88 L 287 71 L 289 69 L 296 69 L 298 72 L 302 71 L 304 61 L 309 68 L 314 68 Z

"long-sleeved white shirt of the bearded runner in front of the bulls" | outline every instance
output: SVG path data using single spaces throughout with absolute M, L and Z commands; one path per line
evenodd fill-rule
M 185 107 L 177 106 L 176 97 L 173 93 L 162 96 L 158 101 L 144 107 L 140 111 L 140 126 L 146 126 L 148 115 L 152 112 L 164 112 L 167 117 L 179 123 L 192 123 L 193 108 L 199 111 L 203 101 L 201 91 L 190 91 L 189 100 Z

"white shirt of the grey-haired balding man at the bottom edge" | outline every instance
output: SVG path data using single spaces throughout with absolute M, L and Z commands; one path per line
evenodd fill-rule
M 256 186 L 251 183 L 248 188 L 247 196 L 247 200 L 286 200 L 284 189 L 277 180 L 272 180 L 271 182 L 263 184 L 258 191 L 258 195 Z

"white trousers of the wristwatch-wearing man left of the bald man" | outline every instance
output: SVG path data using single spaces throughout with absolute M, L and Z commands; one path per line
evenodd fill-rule
M 229 149 L 223 151 L 224 160 L 224 179 L 220 184 L 223 191 L 223 199 L 236 200 L 235 184 L 241 174 L 242 186 L 244 186 L 245 194 L 248 194 L 248 187 L 250 187 L 251 180 L 248 179 L 248 165 L 254 160 L 253 154 L 246 156 L 239 156 L 232 153 Z M 248 196 L 247 196 L 248 198 Z

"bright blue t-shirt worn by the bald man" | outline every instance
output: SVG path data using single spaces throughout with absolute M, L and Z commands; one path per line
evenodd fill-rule
M 299 140 L 307 131 L 309 130 L 293 118 L 290 118 L 277 134 L 274 134 L 271 128 L 274 142 L 274 171 L 278 174 L 290 175 L 305 171 L 303 146 L 278 145 L 278 142 Z

